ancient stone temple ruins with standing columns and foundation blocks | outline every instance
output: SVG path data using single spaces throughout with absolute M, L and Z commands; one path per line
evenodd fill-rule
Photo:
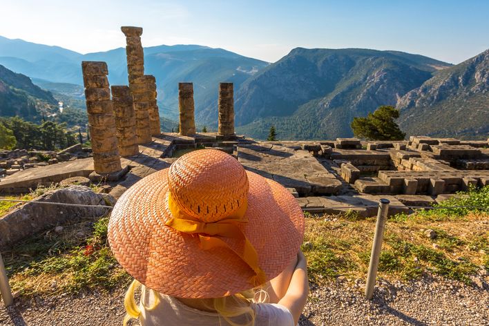
M 430 207 L 457 191 L 489 184 L 487 140 L 414 136 L 409 141 L 262 142 L 237 136 L 232 83 L 219 85 L 217 133 L 196 133 L 191 82 L 178 84 L 180 133 L 161 133 L 155 77 L 144 75 L 142 28 L 122 31 L 129 86 L 113 86 L 111 100 L 106 64 L 82 64 L 93 159 L 81 146 L 73 153 L 88 157 L 82 160 L 58 153 L 49 162 L 35 162 L 28 153 L 15 157 L 0 153 L 0 161 L 6 157 L 0 162 L 0 175 L 9 175 L 1 180 L 0 192 L 19 193 L 26 185 L 35 188 L 93 171 L 113 173 L 121 170 L 122 161 L 132 170 L 124 180 L 111 180 L 115 182 L 111 193 L 118 198 L 137 180 L 168 167 L 182 151 L 203 147 L 233 154 L 245 169 L 282 184 L 305 211 L 314 213 L 352 210 L 372 215 L 380 198 L 391 201 L 390 214 L 410 212 L 408 206 Z M 52 168 L 58 160 L 76 161 L 61 163 L 61 173 Z

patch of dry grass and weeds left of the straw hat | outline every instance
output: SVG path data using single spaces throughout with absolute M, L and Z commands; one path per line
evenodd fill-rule
M 108 218 L 88 218 L 62 231 L 41 233 L 2 253 L 12 291 L 50 296 L 128 284 L 128 274 L 108 248 L 107 224 Z

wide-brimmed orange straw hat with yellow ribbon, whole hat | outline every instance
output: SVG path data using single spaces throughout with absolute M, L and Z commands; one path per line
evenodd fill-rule
M 276 277 L 297 255 L 304 217 L 280 184 L 204 149 L 128 189 L 108 242 L 131 276 L 180 298 L 219 298 Z

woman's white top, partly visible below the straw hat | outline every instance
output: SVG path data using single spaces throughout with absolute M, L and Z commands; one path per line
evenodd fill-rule
M 141 315 L 140 323 L 142 326 L 166 326 L 166 325 L 198 325 L 198 326 L 229 326 L 218 313 L 202 311 L 184 305 L 179 300 L 160 294 L 162 300 L 153 310 L 155 302 L 153 291 L 146 291 L 143 287 L 141 294 Z M 294 326 L 294 318 L 289 309 L 276 303 L 255 303 L 252 304 L 256 313 L 255 326 Z M 233 318 L 234 323 L 246 324 L 245 318 Z

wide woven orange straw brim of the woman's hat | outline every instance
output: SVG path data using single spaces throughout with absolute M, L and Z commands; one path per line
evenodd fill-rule
M 253 272 L 230 249 L 202 250 L 198 236 L 167 227 L 168 169 L 128 189 L 115 204 L 108 242 L 120 265 L 146 287 L 180 298 L 219 298 L 253 285 Z M 304 215 L 283 186 L 247 171 L 247 223 L 242 231 L 258 253 L 267 278 L 276 277 L 297 255 L 304 236 Z M 240 243 L 222 238 L 231 247 Z

